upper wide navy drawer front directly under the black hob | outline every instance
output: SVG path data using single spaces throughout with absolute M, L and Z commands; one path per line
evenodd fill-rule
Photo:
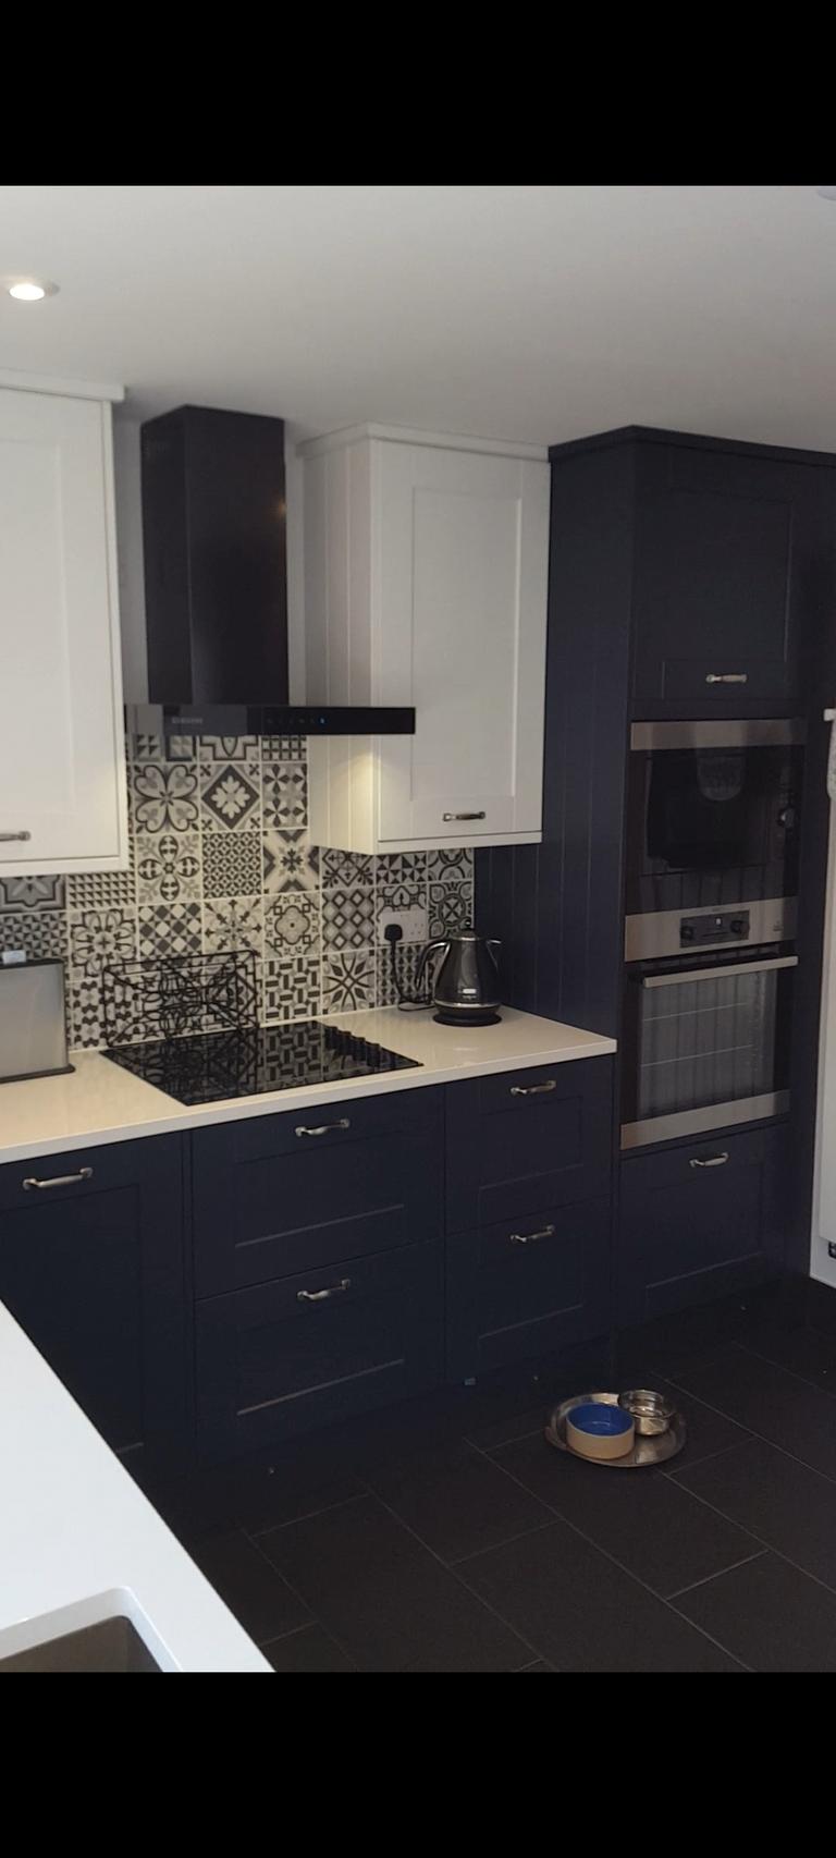
M 212 1297 L 318 1265 L 435 1239 L 442 1230 L 437 1091 L 412 1102 L 334 1104 L 199 1130 L 193 1139 L 195 1286 Z M 381 1117 L 362 1115 L 368 1109 Z M 355 1111 L 360 1115 L 355 1115 Z M 379 1126 L 383 1120 L 383 1128 Z M 344 1126 L 347 1122 L 347 1128 Z M 297 1130 L 325 1128 L 325 1135 Z M 221 1137 L 221 1139 L 219 1139 Z

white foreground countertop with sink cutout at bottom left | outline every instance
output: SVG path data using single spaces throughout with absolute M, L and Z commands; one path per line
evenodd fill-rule
M 163 1670 L 269 1672 L 2 1304 L 0 1492 L 0 1659 L 126 1615 Z

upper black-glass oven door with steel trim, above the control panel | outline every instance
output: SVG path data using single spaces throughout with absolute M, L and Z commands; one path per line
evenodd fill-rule
M 689 922 L 712 912 L 721 940 L 734 916 L 732 936 L 747 944 L 793 933 L 803 745 L 801 721 L 634 723 L 626 961 L 671 951 L 680 920 L 686 951 L 697 942 Z

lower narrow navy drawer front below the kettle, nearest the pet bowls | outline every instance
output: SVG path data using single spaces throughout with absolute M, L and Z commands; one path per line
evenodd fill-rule
M 448 1379 L 609 1327 L 609 1198 L 461 1234 L 448 1247 Z

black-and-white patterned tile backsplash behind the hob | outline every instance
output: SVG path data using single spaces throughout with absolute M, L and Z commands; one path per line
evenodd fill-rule
M 128 739 L 130 871 L 0 879 L 0 948 L 61 955 L 71 1044 L 106 1042 L 111 961 L 247 949 L 266 1026 L 392 1005 L 381 910 L 468 927 L 470 851 L 370 858 L 312 845 L 303 736 Z M 401 944 L 409 992 L 418 946 Z

